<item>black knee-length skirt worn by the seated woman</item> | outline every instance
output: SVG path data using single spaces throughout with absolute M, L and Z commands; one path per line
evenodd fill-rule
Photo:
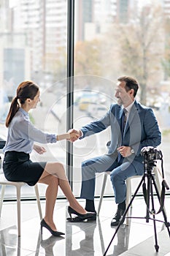
M 45 170 L 47 162 L 32 162 L 29 154 L 7 151 L 4 155 L 3 170 L 8 181 L 23 181 L 34 186 Z

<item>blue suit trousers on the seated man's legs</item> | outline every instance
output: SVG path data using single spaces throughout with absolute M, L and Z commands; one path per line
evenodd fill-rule
M 137 164 L 137 165 L 135 165 Z M 136 167 L 137 166 L 137 170 Z M 96 173 L 111 171 L 110 179 L 115 192 L 115 203 L 122 203 L 126 197 L 125 180 L 128 177 L 142 175 L 142 163 L 126 161 L 123 157 L 117 162 L 117 154 L 104 154 L 82 162 L 81 198 L 94 200 Z

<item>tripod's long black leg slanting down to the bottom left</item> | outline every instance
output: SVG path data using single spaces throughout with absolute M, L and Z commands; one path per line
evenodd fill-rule
M 133 197 L 131 198 L 131 201 L 130 201 L 130 203 L 128 204 L 128 207 L 126 208 L 126 210 L 125 210 L 125 212 L 124 212 L 124 214 L 123 214 L 123 217 L 122 217 L 122 219 L 120 220 L 119 225 L 117 226 L 117 228 L 116 228 L 116 230 L 115 230 L 115 233 L 113 234 L 112 239 L 111 239 L 111 241 L 109 242 L 109 245 L 107 246 L 107 249 L 106 249 L 106 251 L 104 252 L 104 255 L 103 255 L 103 256 L 106 256 L 106 255 L 107 255 L 107 252 L 108 252 L 108 250 L 109 250 L 109 246 L 111 246 L 112 241 L 113 241 L 113 239 L 115 238 L 115 236 L 116 236 L 116 234 L 117 234 L 117 231 L 118 231 L 119 228 L 120 228 L 120 225 L 123 224 L 124 219 L 125 219 L 125 216 L 126 216 L 126 214 L 127 214 L 127 212 L 128 212 L 128 209 L 131 207 L 131 204 L 133 203 L 134 197 L 136 197 L 136 194 L 137 194 L 137 192 L 139 191 L 139 189 L 140 189 L 140 187 L 141 187 L 141 185 L 142 185 L 142 182 L 144 181 L 144 178 L 145 178 L 145 174 L 144 174 L 144 176 L 142 177 L 142 180 L 140 181 L 140 183 L 139 183 L 139 185 L 138 185 L 136 191 L 134 192 L 134 195 L 133 195 Z

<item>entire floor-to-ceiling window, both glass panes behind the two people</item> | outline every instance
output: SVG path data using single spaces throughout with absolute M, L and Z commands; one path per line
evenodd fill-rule
M 47 132 L 66 132 L 66 0 L 0 0 L 0 136 L 18 84 L 34 80 L 41 103 L 31 121 Z M 164 170 L 169 176 L 170 143 L 170 1 L 75 0 L 74 128 L 100 118 L 116 102 L 120 75 L 140 83 L 137 100 L 152 107 L 163 140 Z M 81 162 L 107 152 L 109 129 L 73 146 L 73 191 L 80 195 Z M 33 160 L 61 161 L 66 167 L 66 142 L 48 144 Z M 100 193 L 102 175 L 96 180 Z M 45 187 L 41 186 L 41 195 Z M 25 188 L 31 196 L 31 188 Z M 113 194 L 110 182 L 107 194 Z M 12 190 L 9 195 L 12 196 Z M 60 192 L 60 195 L 63 195 Z

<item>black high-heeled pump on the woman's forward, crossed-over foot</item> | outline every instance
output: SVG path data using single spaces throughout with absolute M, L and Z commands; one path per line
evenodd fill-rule
M 80 222 L 83 222 L 85 219 L 96 220 L 96 212 L 87 212 L 87 214 L 79 214 L 70 206 L 68 206 L 68 212 L 69 212 L 70 218 L 68 218 L 67 220 L 70 220 L 71 222 L 74 221 L 74 219 L 79 219 Z M 77 217 L 72 218 L 72 214 L 77 215 Z

